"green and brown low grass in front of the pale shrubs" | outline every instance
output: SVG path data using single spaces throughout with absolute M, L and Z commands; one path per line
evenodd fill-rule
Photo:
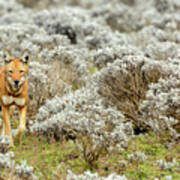
M 157 165 L 159 159 L 172 161 L 176 158 L 180 166 L 180 144 L 174 144 L 171 149 L 168 149 L 167 139 L 168 135 L 159 137 L 153 133 L 138 136 L 129 142 L 126 150 L 120 152 L 116 149 L 101 155 L 94 167 L 84 160 L 77 144 L 71 140 L 48 143 L 43 138 L 26 135 L 13 151 L 17 162 L 26 159 L 43 180 L 65 179 L 67 169 L 77 174 L 90 170 L 98 172 L 101 176 L 116 172 L 125 174 L 133 180 L 154 180 L 155 177 L 163 180 L 167 175 L 171 175 L 173 180 L 178 180 L 180 179 L 179 167 L 174 167 L 170 171 L 163 170 Z M 147 160 L 144 163 L 129 161 L 128 155 L 135 152 L 144 152 Z

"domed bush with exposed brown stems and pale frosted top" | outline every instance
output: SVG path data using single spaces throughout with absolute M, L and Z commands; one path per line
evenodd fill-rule
M 107 104 L 116 105 L 127 120 L 142 126 L 140 105 L 146 99 L 149 85 L 159 78 L 167 78 L 170 72 L 162 62 L 143 56 L 125 56 L 100 71 L 99 93 Z

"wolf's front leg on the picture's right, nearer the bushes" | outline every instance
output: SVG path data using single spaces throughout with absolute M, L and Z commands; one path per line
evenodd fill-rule
M 15 135 L 15 141 L 20 141 L 21 137 L 26 129 L 26 106 L 19 108 L 19 119 L 20 124 L 18 127 L 17 134 Z

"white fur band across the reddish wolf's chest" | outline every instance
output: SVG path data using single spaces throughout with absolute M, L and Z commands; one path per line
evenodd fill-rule
M 25 104 L 25 98 L 16 98 L 13 96 L 3 96 L 2 101 L 5 105 L 14 103 L 17 106 L 23 106 Z

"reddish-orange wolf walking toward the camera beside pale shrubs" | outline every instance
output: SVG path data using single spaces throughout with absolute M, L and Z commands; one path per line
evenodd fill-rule
M 12 58 L 8 51 L 3 55 L 4 66 L 0 67 L 0 103 L 3 113 L 3 133 L 10 138 L 13 146 L 10 120 L 14 108 L 19 110 L 19 127 L 15 140 L 20 140 L 26 128 L 28 103 L 29 52 L 25 50 L 20 58 Z

